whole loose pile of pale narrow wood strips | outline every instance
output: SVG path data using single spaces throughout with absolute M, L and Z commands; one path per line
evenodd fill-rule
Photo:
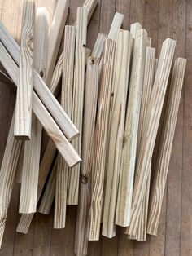
M 53 226 L 64 228 L 67 205 L 78 205 L 76 255 L 86 255 L 88 241 L 101 234 L 116 236 L 117 226 L 137 241 L 157 235 L 186 60 L 173 61 L 170 38 L 156 56 L 142 25 L 122 29 L 120 13 L 90 50 L 96 5 L 85 0 L 69 26 L 69 1 L 59 0 L 49 27 L 46 7 L 24 1 L 20 46 L 0 24 L 4 81 L 17 86 L 0 170 L 0 245 L 15 182 L 17 232 L 26 234 L 34 213 L 49 214 L 53 204 Z M 50 139 L 40 157 L 42 130 Z

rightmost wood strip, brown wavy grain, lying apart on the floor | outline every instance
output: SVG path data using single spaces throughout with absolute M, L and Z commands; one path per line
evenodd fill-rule
M 158 232 L 160 211 L 163 202 L 164 188 L 167 180 L 168 165 L 172 152 L 172 142 L 176 128 L 177 114 L 181 99 L 181 90 L 185 75 L 185 66 L 185 59 L 178 58 L 175 60 L 172 71 L 172 81 L 168 95 L 166 115 L 164 118 L 164 126 L 161 135 L 161 143 L 159 146 L 159 153 L 155 166 L 155 177 L 153 179 L 151 189 L 150 211 L 147 225 L 147 233 L 155 236 Z

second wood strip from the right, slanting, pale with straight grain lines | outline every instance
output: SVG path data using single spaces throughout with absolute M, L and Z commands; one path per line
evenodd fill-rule
M 176 42 L 166 39 L 163 43 L 159 56 L 159 64 L 155 74 L 155 82 L 151 93 L 150 104 L 146 112 L 144 124 L 145 136 L 137 161 L 135 186 L 133 190 L 133 204 L 131 210 L 131 222 L 129 235 L 137 233 L 137 222 L 141 211 L 142 199 L 146 192 L 146 181 L 149 176 L 149 165 L 151 164 L 152 152 L 155 145 L 155 138 L 159 126 L 160 114 L 164 104 L 164 95 L 168 85 L 168 77 L 172 65 L 172 58 Z

